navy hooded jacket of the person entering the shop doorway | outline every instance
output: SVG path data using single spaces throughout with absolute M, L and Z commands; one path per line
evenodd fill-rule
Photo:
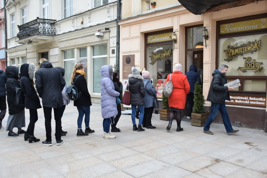
M 197 73 L 197 68 L 195 65 L 191 65 L 189 68 L 189 72 L 185 73 L 186 78 L 190 85 L 190 93 L 194 93 L 196 81 L 201 84 L 200 75 Z

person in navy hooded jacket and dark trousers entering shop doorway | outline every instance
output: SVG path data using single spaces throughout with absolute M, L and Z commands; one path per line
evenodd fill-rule
M 200 75 L 197 73 L 197 68 L 195 65 L 191 65 L 189 72 L 185 73 L 186 78 L 190 85 L 190 91 L 186 95 L 186 104 L 187 104 L 187 119 L 191 119 L 192 108 L 194 106 L 194 90 L 196 81 L 201 84 Z

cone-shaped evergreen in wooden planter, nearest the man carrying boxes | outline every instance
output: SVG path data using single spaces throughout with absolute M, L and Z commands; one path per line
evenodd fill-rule
M 196 81 L 194 90 L 194 107 L 191 114 L 191 125 L 202 127 L 210 114 L 210 112 L 205 111 L 204 108 L 205 99 L 202 94 L 202 87 Z

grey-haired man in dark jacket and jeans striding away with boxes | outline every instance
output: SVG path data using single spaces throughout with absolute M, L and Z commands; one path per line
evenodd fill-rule
M 233 130 L 230 118 L 228 116 L 228 111 L 225 106 L 225 100 L 230 101 L 230 96 L 229 96 L 229 90 L 233 90 L 233 88 L 228 86 L 223 86 L 224 84 L 227 83 L 226 81 L 226 74 L 228 73 L 228 66 L 227 65 L 220 65 L 219 69 L 214 70 L 212 73 L 212 82 L 211 86 L 209 89 L 207 101 L 211 101 L 211 113 L 204 125 L 204 130 L 203 132 L 209 135 L 213 135 L 213 133 L 210 131 L 210 125 L 212 121 L 215 119 L 218 110 L 220 111 L 222 115 L 222 120 L 224 127 L 226 129 L 227 135 L 232 135 L 239 130 Z

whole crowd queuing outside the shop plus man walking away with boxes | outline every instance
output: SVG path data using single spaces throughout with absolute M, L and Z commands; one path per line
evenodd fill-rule
M 42 108 L 44 110 L 45 118 L 45 130 L 46 130 L 46 140 L 42 142 L 43 145 L 52 145 L 51 136 L 51 112 L 52 108 L 54 110 L 55 118 L 55 139 L 56 145 L 61 145 L 63 140 L 61 136 L 66 135 L 66 131 L 62 130 L 61 118 L 63 116 L 65 107 L 70 103 L 70 99 L 66 94 L 66 83 L 64 79 L 65 69 L 61 67 L 53 67 L 52 64 L 45 58 L 41 58 L 38 63 L 38 70 L 35 72 L 35 82 L 34 82 L 34 63 L 22 64 L 20 67 L 20 74 L 18 73 L 18 67 L 8 66 L 6 72 L 0 70 L 0 129 L 2 127 L 2 120 L 6 113 L 6 105 L 4 99 L 6 98 L 5 90 L 7 94 L 8 102 L 8 120 L 6 131 L 8 131 L 8 136 L 19 136 L 19 134 L 24 134 L 24 140 L 29 143 L 38 142 L 34 136 L 34 125 L 38 120 L 37 109 Z M 232 90 L 230 86 L 223 86 L 227 83 L 225 75 L 227 74 L 228 66 L 221 65 L 219 69 L 216 69 L 212 74 L 213 80 L 211 88 L 208 94 L 208 101 L 212 102 L 212 112 L 207 119 L 204 126 L 204 133 L 212 135 L 213 133 L 209 130 L 212 121 L 217 115 L 219 110 L 223 117 L 223 122 L 228 135 L 237 133 L 239 130 L 233 130 L 227 109 L 225 107 L 225 100 L 229 99 L 229 90 Z M 116 103 L 116 100 L 121 100 L 121 94 L 123 91 L 122 83 L 118 79 L 118 73 L 113 72 L 111 65 L 104 65 L 101 67 L 101 107 L 102 107 L 102 118 L 103 118 L 103 138 L 113 139 L 116 135 L 112 135 L 111 132 L 120 132 L 121 130 L 117 128 L 119 118 L 121 116 L 121 106 L 120 103 Z M 155 129 L 151 123 L 151 118 L 154 110 L 153 100 L 156 97 L 157 91 L 152 85 L 152 80 L 150 78 L 149 71 L 145 69 L 140 71 L 132 67 L 132 74 L 128 75 L 128 90 L 131 93 L 130 104 L 132 106 L 132 123 L 133 131 L 145 131 L 144 127 L 147 129 Z M 170 80 L 170 75 L 167 76 L 165 84 Z M 175 119 L 177 123 L 176 131 L 182 131 L 181 128 L 181 113 L 185 108 L 187 101 L 187 118 L 191 117 L 191 109 L 194 92 L 194 83 L 200 81 L 199 74 L 196 71 L 196 66 L 191 65 L 190 71 L 183 74 L 181 64 L 176 64 L 174 67 L 174 72 L 171 74 L 171 81 L 173 84 L 173 90 L 169 97 L 170 106 L 170 118 L 169 124 L 166 130 L 170 130 L 172 126 L 172 121 Z M 71 84 L 75 84 L 78 93 L 80 94 L 79 99 L 74 101 L 74 106 L 78 110 L 77 119 L 77 136 L 88 136 L 89 133 L 93 133 L 89 127 L 90 122 L 90 106 L 91 95 L 88 92 L 85 69 L 83 64 L 75 64 L 72 76 Z M 165 85 L 164 84 L 164 85 Z M 36 85 L 36 90 L 34 88 Z M 16 88 L 21 88 L 24 97 L 25 105 L 15 104 Z M 220 98 L 216 100 L 212 97 L 214 94 L 218 94 Z M 42 98 L 42 106 L 40 104 L 39 97 Z M 116 99 L 118 97 L 118 99 Z M 179 102 L 177 102 L 179 101 Z M 25 127 L 25 111 L 24 109 L 29 109 L 29 125 L 26 131 L 22 130 Z M 139 109 L 140 116 L 138 120 L 138 125 L 135 122 L 136 109 Z M 85 132 L 82 131 L 82 121 L 85 115 Z M 18 134 L 13 132 L 14 128 L 18 128 Z

